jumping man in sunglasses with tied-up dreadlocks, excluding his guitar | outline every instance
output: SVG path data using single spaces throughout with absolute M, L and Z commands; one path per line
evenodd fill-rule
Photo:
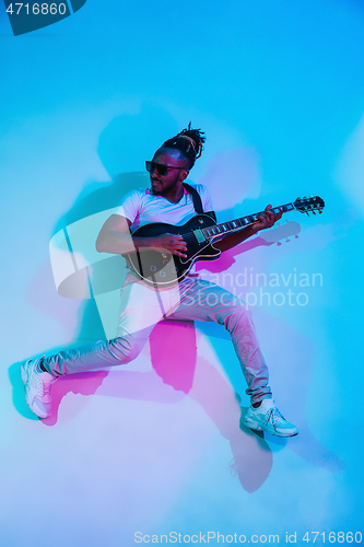
M 203 142 L 203 132 L 191 129 L 189 124 L 187 129 L 162 144 L 153 160 L 146 162 L 151 187 L 132 190 L 124 197 L 117 212 L 101 229 L 96 241 L 99 253 L 128 255 L 137 251 L 142 257 L 145 251 L 162 249 L 181 258 L 187 256 L 187 244 L 181 235 L 165 233 L 138 237 L 132 233 L 155 222 L 183 225 L 197 214 L 196 202 L 201 205 L 204 214 L 215 219 L 208 188 L 201 184 L 184 185 L 195 161 L 201 155 Z M 271 228 L 282 212 L 274 216 L 270 209 L 269 205 L 257 222 L 225 235 L 214 243 L 214 247 L 226 251 L 258 231 Z M 168 317 L 214 321 L 224 326 L 231 334 L 248 386 L 246 393 L 251 406 L 244 423 L 278 437 L 298 433 L 274 404 L 268 368 L 259 349 L 251 314 L 244 302 L 198 276 L 187 276 L 179 283 L 158 290 L 146 284 L 132 269 L 126 277 L 121 299 L 124 305 L 117 338 L 28 360 L 21 365 L 26 403 L 39 418 L 51 414 L 51 386 L 59 376 L 132 361 L 155 324 Z

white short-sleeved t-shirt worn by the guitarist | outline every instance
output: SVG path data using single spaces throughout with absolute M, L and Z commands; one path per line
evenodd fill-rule
M 202 184 L 188 184 L 199 193 L 203 211 L 213 211 L 212 199 L 208 188 Z M 132 190 L 122 198 L 115 213 L 130 220 L 131 232 L 153 222 L 164 222 L 180 226 L 197 214 L 191 195 L 187 193 L 186 188 L 184 190 L 184 195 L 178 203 L 172 203 L 162 196 L 154 196 L 149 189 Z

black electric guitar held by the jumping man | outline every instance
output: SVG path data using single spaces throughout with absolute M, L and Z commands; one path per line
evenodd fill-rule
M 303 213 L 322 212 L 324 200 L 318 197 L 297 198 L 293 203 L 286 203 L 271 209 L 274 214 L 283 210 Z M 129 264 L 140 279 L 150 286 L 172 287 L 181 281 L 197 260 L 215 260 L 221 251 L 213 246 L 213 241 L 224 234 L 237 232 L 254 224 L 262 212 L 249 214 L 240 219 L 216 224 L 209 214 L 197 214 L 183 226 L 174 226 L 162 222 L 145 224 L 133 232 L 136 237 L 157 237 L 162 234 L 181 235 L 187 245 L 186 258 L 158 249 L 143 249 L 128 254 Z

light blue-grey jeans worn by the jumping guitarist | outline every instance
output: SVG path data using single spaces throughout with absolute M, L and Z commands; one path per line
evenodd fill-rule
M 121 289 L 119 336 L 60 351 L 43 364 L 51 374 L 62 375 L 129 363 L 163 318 L 214 321 L 223 325 L 231 334 L 251 403 L 271 397 L 268 368 L 250 312 L 235 295 L 198 277 L 187 277 L 174 288 L 155 290 L 129 274 Z

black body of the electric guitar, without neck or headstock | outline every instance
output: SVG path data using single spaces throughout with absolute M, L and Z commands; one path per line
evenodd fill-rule
M 145 249 L 129 254 L 129 263 L 148 284 L 172 287 L 187 276 L 197 260 L 214 260 L 220 257 L 221 251 L 214 248 L 201 233 L 201 229 L 215 224 L 208 214 L 198 214 L 183 226 L 162 222 L 141 226 L 133 232 L 134 237 L 157 237 L 166 233 L 181 235 L 187 244 L 187 257 L 183 258 L 167 252 L 161 253 L 157 249 Z

